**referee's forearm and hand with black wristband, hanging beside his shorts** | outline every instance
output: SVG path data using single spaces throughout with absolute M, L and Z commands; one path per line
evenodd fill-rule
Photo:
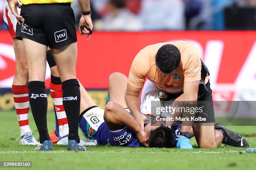
M 87 28 L 90 28 L 92 30 L 92 18 L 91 18 L 91 7 L 90 7 L 90 0 L 79 0 L 79 4 L 82 8 L 82 16 L 80 18 L 79 27 L 86 26 Z M 86 28 L 79 29 L 80 34 L 87 35 L 87 39 L 90 37 L 90 31 Z

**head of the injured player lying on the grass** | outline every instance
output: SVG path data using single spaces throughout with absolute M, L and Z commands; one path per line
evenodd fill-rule
M 159 124 L 160 125 L 157 125 Z M 146 139 L 150 148 L 174 148 L 174 131 L 162 122 L 149 122 L 145 127 Z

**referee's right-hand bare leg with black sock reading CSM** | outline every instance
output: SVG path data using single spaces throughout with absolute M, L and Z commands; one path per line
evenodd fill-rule
M 62 82 L 63 105 L 69 122 L 69 140 L 76 140 L 79 143 L 80 90 L 76 78 L 77 42 L 51 48 L 51 51 Z

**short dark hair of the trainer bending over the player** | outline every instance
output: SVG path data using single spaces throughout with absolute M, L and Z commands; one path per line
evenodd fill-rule
M 161 72 L 169 74 L 179 66 L 180 56 L 180 51 L 175 45 L 163 45 L 156 53 L 156 66 Z

